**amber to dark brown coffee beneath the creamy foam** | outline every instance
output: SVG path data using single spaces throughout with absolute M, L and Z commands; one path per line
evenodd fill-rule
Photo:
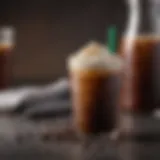
M 76 129 L 82 133 L 111 131 L 115 126 L 116 100 L 113 96 L 115 92 L 111 88 L 115 77 L 111 78 L 110 73 L 103 72 L 84 71 L 71 74 L 74 123 Z

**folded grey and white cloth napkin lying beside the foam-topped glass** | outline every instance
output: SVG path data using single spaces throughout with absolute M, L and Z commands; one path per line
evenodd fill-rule
M 41 87 L 26 86 L 0 92 L 0 112 L 24 113 L 31 117 L 46 116 L 68 113 L 70 106 L 67 78 Z

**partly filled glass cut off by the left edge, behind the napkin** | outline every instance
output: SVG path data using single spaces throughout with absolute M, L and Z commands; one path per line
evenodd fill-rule
M 6 89 L 11 84 L 14 38 L 15 33 L 12 27 L 0 27 L 0 89 Z

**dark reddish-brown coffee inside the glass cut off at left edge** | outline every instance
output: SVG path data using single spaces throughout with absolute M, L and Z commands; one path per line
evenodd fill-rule
M 0 46 L 0 89 L 10 84 L 10 47 Z

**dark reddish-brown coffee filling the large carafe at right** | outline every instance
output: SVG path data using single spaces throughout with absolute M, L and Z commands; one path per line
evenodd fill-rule
M 138 37 L 130 53 L 125 52 L 125 41 L 120 53 L 125 67 L 120 91 L 120 108 L 127 111 L 150 112 L 155 108 L 153 96 L 153 57 L 160 39 Z

